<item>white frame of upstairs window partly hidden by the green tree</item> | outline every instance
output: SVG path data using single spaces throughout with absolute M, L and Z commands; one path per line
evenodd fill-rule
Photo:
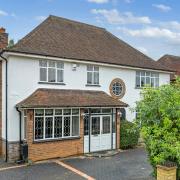
M 140 73 L 140 75 L 138 75 L 138 73 Z M 142 74 L 145 74 L 145 75 L 142 75 Z M 149 74 L 149 76 L 148 76 L 147 74 Z M 153 74 L 155 74 L 155 76 L 153 76 Z M 140 86 L 139 86 L 139 87 L 137 87 L 137 83 L 136 83 L 137 77 L 138 77 L 139 80 L 140 80 Z M 141 79 L 142 79 L 142 78 L 145 79 L 144 86 L 142 86 L 142 84 L 141 84 Z M 147 83 L 146 83 L 147 78 L 150 78 L 150 84 L 147 84 Z M 143 88 L 143 87 L 145 87 L 146 85 L 150 85 L 150 87 L 152 87 L 152 88 L 157 88 L 157 87 L 159 87 L 159 73 L 157 73 L 157 72 L 136 71 L 136 79 L 135 79 L 135 87 L 136 87 L 136 88 Z M 153 81 L 154 81 L 154 85 L 153 85 L 153 86 L 152 86 L 152 79 L 153 79 Z M 158 84 L 156 84 L 156 80 L 158 80 Z

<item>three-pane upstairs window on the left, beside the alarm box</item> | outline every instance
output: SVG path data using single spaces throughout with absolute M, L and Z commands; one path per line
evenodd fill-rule
M 64 63 L 58 61 L 39 61 L 40 82 L 62 83 L 64 81 Z

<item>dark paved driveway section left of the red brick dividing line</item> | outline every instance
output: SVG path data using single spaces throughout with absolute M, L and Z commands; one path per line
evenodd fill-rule
M 84 180 L 84 178 L 56 163 L 43 163 L 33 166 L 4 170 L 0 180 Z

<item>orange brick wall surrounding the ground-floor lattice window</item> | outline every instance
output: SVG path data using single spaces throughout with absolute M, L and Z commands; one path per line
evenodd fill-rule
M 82 114 L 82 110 L 81 110 Z M 80 138 L 47 142 L 33 142 L 34 111 L 27 111 L 28 159 L 32 161 L 67 157 L 82 154 L 84 151 L 84 125 L 80 118 Z

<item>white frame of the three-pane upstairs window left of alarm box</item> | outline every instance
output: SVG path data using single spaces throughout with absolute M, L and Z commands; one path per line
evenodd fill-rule
M 47 64 L 47 66 L 41 66 L 40 65 L 40 63 L 41 62 L 46 62 L 46 64 Z M 54 62 L 55 63 L 55 67 L 51 67 L 49 64 L 51 63 L 51 62 Z M 62 67 L 58 67 L 58 63 L 62 63 Z M 49 69 L 51 69 L 51 68 L 53 68 L 53 69 L 55 69 L 55 82 L 50 82 L 49 80 L 48 80 L 48 73 L 49 73 Z M 40 70 L 41 69 L 46 69 L 46 80 L 45 81 L 42 81 L 41 80 L 41 72 L 40 72 Z M 58 70 L 60 70 L 60 71 L 62 71 L 63 73 L 62 73 L 62 81 L 57 81 L 57 79 L 58 79 Z M 64 83 L 64 62 L 62 62 L 62 61 L 51 61 L 51 60 L 39 60 L 39 82 L 44 82 L 44 83 L 58 83 L 58 84 L 61 84 L 61 83 Z

